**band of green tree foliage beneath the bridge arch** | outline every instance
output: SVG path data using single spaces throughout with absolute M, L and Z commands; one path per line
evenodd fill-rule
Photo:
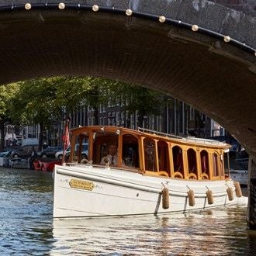
M 92 77 L 40 78 L 0 87 L 2 98 L 0 114 L 9 106 L 15 123 L 42 123 L 50 126 L 57 119 L 74 112 L 81 106 L 98 109 L 100 104 L 123 106 L 130 112 L 139 112 L 140 118 L 147 114 L 159 115 L 163 95 L 148 88 Z M 1 93 L 0 93 L 1 97 Z M 11 102 L 11 103 L 10 103 Z

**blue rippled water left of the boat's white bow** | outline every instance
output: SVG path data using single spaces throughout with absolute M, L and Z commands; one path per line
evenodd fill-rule
M 50 251 L 53 180 L 50 174 L 0 169 L 0 254 Z

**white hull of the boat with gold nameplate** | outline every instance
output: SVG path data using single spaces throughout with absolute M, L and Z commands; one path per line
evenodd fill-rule
M 163 209 L 162 189 L 168 188 L 169 208 Z M 234 200 L 230 201 L 227 188 Z M 195 206 L 189 206 L 189 189 L 195 194 Z M 206 191 L 213 192 L 208 204 Z M 234 182 L 195 181 L 140 175 L 101 167 L 68 167 L 54 170 L 54 218 L 127 216 L 187 212 L 244 202 L 237 198 Z

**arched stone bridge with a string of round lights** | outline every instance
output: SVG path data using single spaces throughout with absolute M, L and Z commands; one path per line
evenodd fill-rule
M 233 3 L 247 15 L 216 2 Z M 172 95 L 205 112 L 244 145 L 251 154 L 253 191 L 254 8 L 251 0 L 0 1 L 0 83 L 92 75 Z M 255 199 L 256 191 L 252 210 Z M 256 228 L 256 216 L 252 219 Z

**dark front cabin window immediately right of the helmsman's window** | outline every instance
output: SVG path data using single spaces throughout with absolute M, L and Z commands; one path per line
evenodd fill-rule
M 130 134 L 123 135 L 123 164 L 139 168 L 138 140 Z

